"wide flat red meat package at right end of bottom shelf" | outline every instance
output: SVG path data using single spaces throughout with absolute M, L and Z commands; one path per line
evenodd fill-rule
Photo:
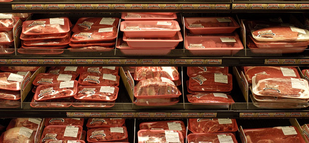
M 244 133 L 244 139 L 247 143 L 260 141 L 280 143 L 305 142 L 298 129 L 294 126 L 244 129 Z

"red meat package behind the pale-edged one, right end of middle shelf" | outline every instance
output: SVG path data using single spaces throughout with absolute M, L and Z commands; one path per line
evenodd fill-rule
M 244 67 L 244 71 L 250 84 L 252 84 L 252 77 L 258 74 L 300 78 L 297 69 L 293 67 Z

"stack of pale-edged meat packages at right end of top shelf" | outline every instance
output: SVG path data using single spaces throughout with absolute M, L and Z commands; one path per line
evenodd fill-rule
M 300 53 L 309 45 L 309 31 L 270 21 L 245 21 L 247 45 L 256 53 Z M 248 29 L 248 30 L 247 30 Z M 278 51 L 280 50 L 280 51 Z

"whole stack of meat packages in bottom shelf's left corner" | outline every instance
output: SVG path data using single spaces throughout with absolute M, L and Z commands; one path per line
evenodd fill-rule
M 32 143 L 36 134 L 40 133 L 42 119 L 40 118 L 16 118 L 12 119 L 7 130 L 0 136 L 0 142 Z

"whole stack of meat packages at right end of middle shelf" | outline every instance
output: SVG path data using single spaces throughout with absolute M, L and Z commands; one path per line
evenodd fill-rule
M 308 82 L 293 67 L 244 67 L 252 84 L 252 102 L 261 108 L 291 109 L 307 107 Z M 283 104 L 284 103 L 284 104 Z

